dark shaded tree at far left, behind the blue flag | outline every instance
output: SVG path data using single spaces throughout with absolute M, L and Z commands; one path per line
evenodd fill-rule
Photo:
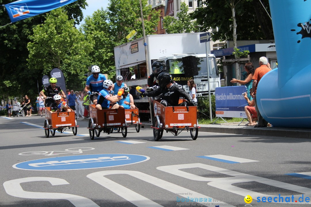
M 8 4 L 15 0 L 0 0 L 0 4 Z M 86 0 L 78 0 L 68 4 L 62 8 L 65 9 L 69 19 L 79 23 L 82 19 L 82 8 L 87 6 Z M 10 25 L 10 18 L 7 11 L 0 10 L 0 93 L 10 96 L 19 96 L 27 93 L 31 96 L 37 96 L 37 82 L 41 85 L 43 76 L 42 70 L 31 72 L 27 69 L 27 58 L 29 52 L 27 50 L 28 38 L 33 34 L 33 27 L 42 24 L 47 13 L 40 14 L 21 20 Z M 50 68 L 52 69 L 52 68 Z M 41 87 L 40 87 L 41 89 Z M 32 98 L 33 100 L 33 98 Z

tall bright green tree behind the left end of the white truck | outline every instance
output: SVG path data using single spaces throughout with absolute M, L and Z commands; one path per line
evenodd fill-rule
M 142 5 L 146 4 L 147 0 L 142 0 Z M 152 10 L 151 6 L 143 6 L 142 10 L 145 33 L 152 34 L 159 21 L 159 12 Z M 143 36 L 139 1 L 110 0 L 106 10 L 101 8 L 86 17 L 81 30 L 86 38 L 95 41 L 92 64 L 98 65 L 102 73 L 115 70 L 114 47 L 129 42 L 125 37 L 133 29 L 137 31 L 134 39 Z M 114 80 L 114 72 L 108 75 L 109 79 Z

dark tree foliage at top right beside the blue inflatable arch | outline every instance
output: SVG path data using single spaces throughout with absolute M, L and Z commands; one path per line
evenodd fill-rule
M 270 13 L 268 0 L 261 1 Z M 230 3 L 219 0 L 202 0 L 204 7 L 197 8 L 191 17 L 197 20 L 200 31 L 211 28 L 218 30 L 211 33 L 216 41 L 232 40 L 233 25 Z M 260 2 L 241 0 L 235 6 L 237 22 L 237 40 L 273 39 L 272 21 Z

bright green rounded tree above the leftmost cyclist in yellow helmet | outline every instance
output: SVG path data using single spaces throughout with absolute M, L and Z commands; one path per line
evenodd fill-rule
M 29 78 L 39 71 L 49 74 L 57 67 L 63 71 L 68 88 L 83 87 L 83 74 L 91 63 L 89 54 L 93 41 L 84 38 L 74 27 L 74 20 L 68 20 L 63 8 L 49 12 L 44 24 L 36 25 L 29 38 Z

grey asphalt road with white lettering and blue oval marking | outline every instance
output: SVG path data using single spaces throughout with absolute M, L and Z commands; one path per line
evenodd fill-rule
M 44 117 L 0 118 L 1 207 L 244 206 L 247 195 L 252 206 L 309 206 L 309 139 L 199 131 L 155 142 L 151 128 L 130 127 L 91 140 L 77 122 L 77 136 L 46 138 Z

